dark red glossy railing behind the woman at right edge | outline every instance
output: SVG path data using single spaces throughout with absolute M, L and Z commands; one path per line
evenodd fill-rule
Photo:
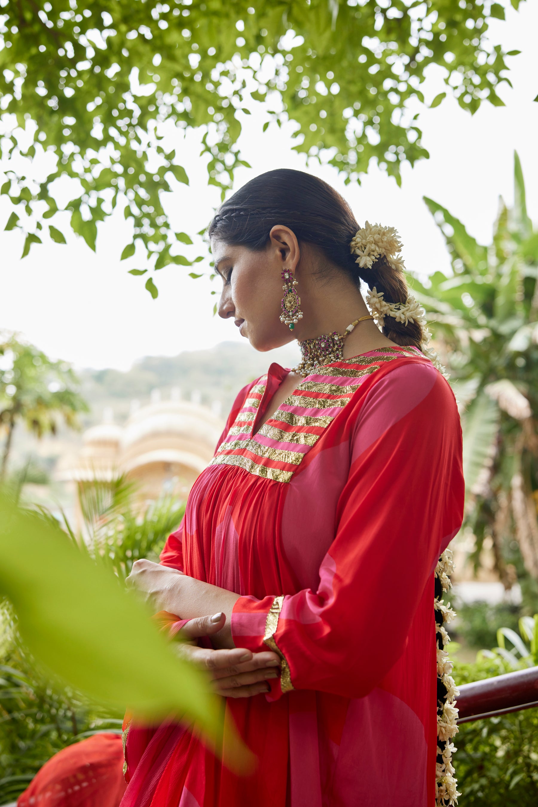
M 458 723 L 531 709 L 538 706 L 538 667 L 461 684 L 458 689 Z

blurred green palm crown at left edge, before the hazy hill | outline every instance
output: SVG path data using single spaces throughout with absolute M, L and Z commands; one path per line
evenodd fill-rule
M 88 405 L 77 386 L 77 376 L 66 362 L 53 362 L 15 335 L 0 341 L 0 427 L 6 432 L 0 479 L 6 476 L 18 422 L 25 423 L 36 437 L 56 434 L 60 420 L 71 429 L 78 428 L 77 413 L 88 412 Z

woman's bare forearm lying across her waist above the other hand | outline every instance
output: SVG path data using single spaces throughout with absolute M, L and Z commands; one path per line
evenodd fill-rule
M 208 614 L 224 613 L 226 623 L 223 629 L 211 637 L 213 646 L 232 648 L 235 644 L 231 638 L 231 612 L 239 600 L 239 594 L 229 592 L 226 588 L 203 583 L 188 575 L 178 575 L 177 579 L 167 587 L 161 600 L 161 606 L 181 619 L 196 619 Z

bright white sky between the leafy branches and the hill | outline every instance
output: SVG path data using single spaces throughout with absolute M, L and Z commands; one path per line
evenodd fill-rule
M 426 273 L 448 269 L 444 239 L 423 195 L 448 207 L 482 243 L 489 242 L 498 195 L 508 203 L 513 199 L 514 149 L 527 180 L 529 214 L 538 220 L 538 103 L 533 102 L 538 94 L 536 30 L 536 2 L 523 2 L 519 13 L 510 8 L 507 23 L 494 21 L 491 40 L 506 50 L 522 51 L 509 59 L 514 89 L 504 85 L 499 93 L 506 107 L 486 104 L 472 118 L 448 98 L 440 107 L 423 111 L 419 124 L 431 158 L 412 170 L 404 166 L 401 188 L 374 165 L 361 186 L 348 187 L 336 169 L 312 166 L 315 174 L 344 194 L 358 221 L 398 228 L 408 269 Z M 444 89 L 441 75 L 440 69 L 432 69 L 428 102 Z M 290 150 L 290 132 L 271 125 L 262 135 L 264 120 L 256 113 L 245 117 L 240 145 L 252 169 L 237 172 L 236 188 L 269 169 L 305 169 L 304 155 Z M 219 203 L 215 188 L 206 186 L 198 142 L 199 134 L 191 132 L 183 146 L 182 164 L 190 187 L 180 186 L 170 207 L 176 231 L 198 232 Z M 8 215 L 2 197 L 0 232 Z M 212 316 L 216 298 L 210 291 L 218 290 L 219 284 L 211 286 L 205 278 L 191 280 L 185 267 L 169 267 L 157 274 L 160 294 L 152 300 L 144 289 L 145 278 L 127 274 L 128 269 L 143 266 L 142 262 L 136 257 L 119 261 L 129 236 L 123 215 L 98 227 L 97 253 L 72 236 L 67 246 L 32 246 L 23 261 L 19 260 L 21 236 L 2 232 L 0 327 L 23 332 L 52 357 L 77 367 L 122 370 L 145 355 L 176 355 L 241 339 L 233 322 Z M 196 247 L 191 249 L 193 257 L 202 254 Z

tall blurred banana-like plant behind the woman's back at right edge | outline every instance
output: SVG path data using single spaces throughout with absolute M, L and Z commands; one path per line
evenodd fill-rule
M 411 286 L 461 406 L 475 562 L 490 536 L 508 588 L 514 536 L 524 567 L 538 579 L 538 230 L 527 214 L 517 153 L 514 207 L 499 200 L 491 245 L 478 244 L 444 207 L 424 201 L 444 233 L 453 275 L 413 278 Z

